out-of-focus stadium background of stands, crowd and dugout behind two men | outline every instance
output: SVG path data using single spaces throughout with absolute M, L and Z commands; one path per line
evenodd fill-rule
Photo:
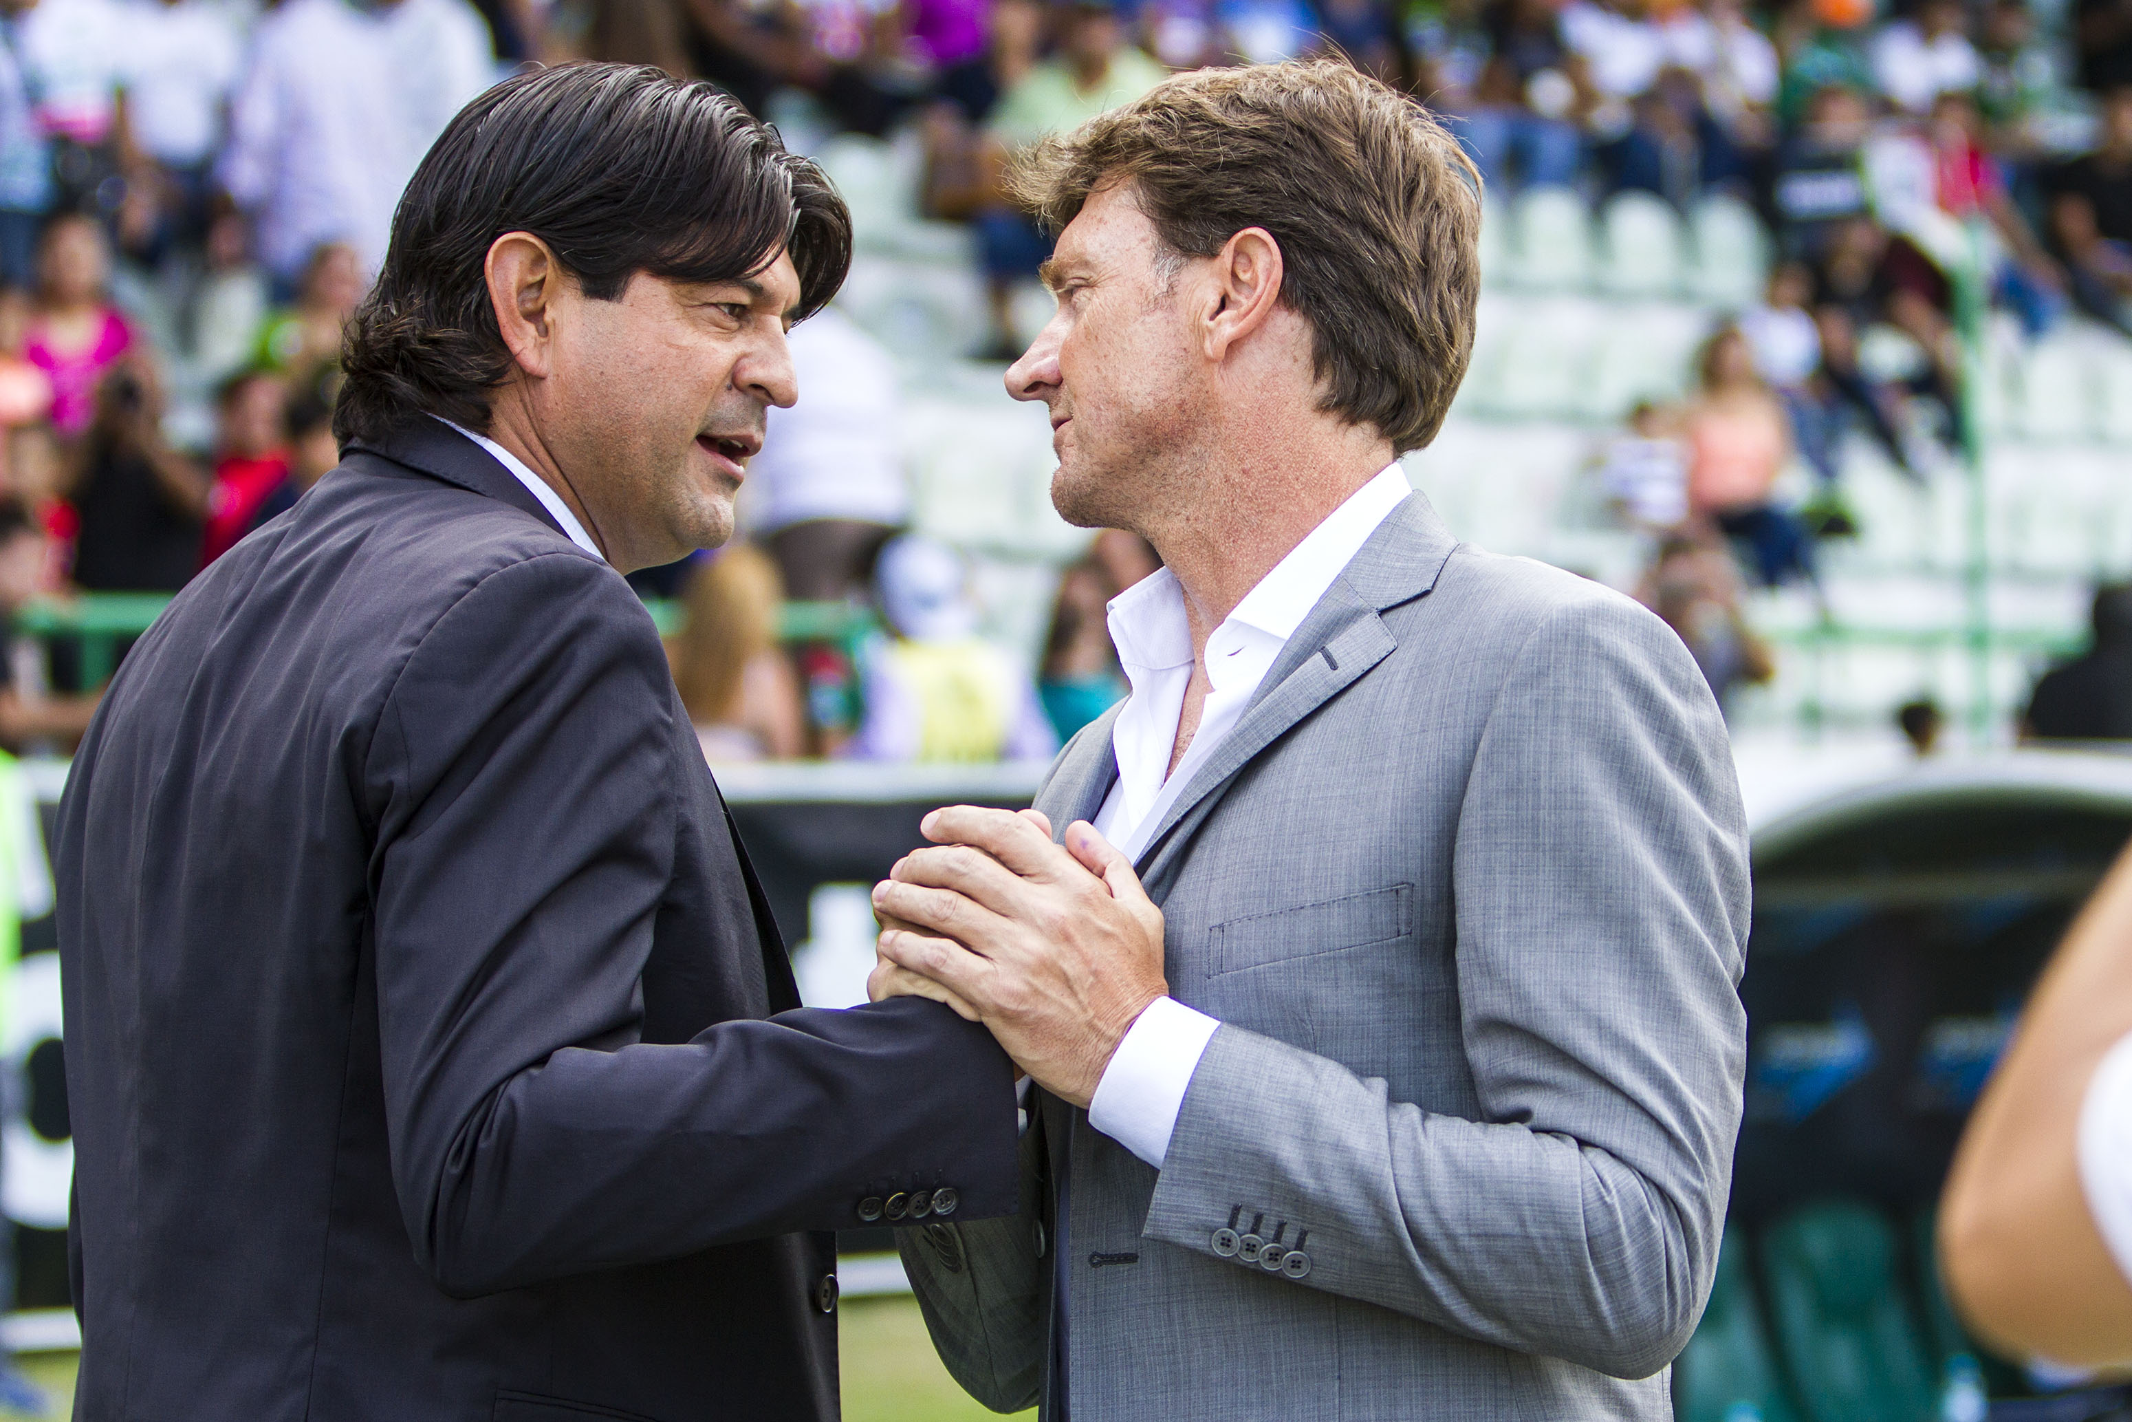
M 1409 478 L 1646 601 L 1733 727 L 1750 1119 L 1682 1416 L 2109 1416 L 1964 1337 L 1929 1217 L 2132 831 L 2132 0 L 0 0 L 11 793 L 49 825 L 130 640 L 335 463 L 341 324 L 458 104 L 657 64 L 855 213 L 742 537 L 633 582 L 808 1000 L 857 1000 L 866 885 L 923 808 L 1028 802 L 1124 695 L 1104 603 L 1158 565 L 1049 507 L 1047 422 L 1002 390 L 1047 237 L 1000 171 L 1166 72 L 1313 53 L 1486 177 L 1473 362 Z M 58 972 L 17 893 L 0 1403 L 64 1416 Z M 846 1239 L 846 1413 L 976 1416 L 889 1249 Z

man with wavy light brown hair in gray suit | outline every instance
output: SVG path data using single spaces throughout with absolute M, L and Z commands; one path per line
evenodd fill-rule
M 1473 343 L 1477 179 L 1335 64 L 1036 149 L 1008 371 L 1060 512 L 1145 535 L 1132 695 L 927 817 L 874 996 L 1034 1081 L 1019 1219 L 904 1262 L 996 1409 L 1669 1418 L 1729 1187 L 1748 866 L 1716 704 L 1627 597 L 1458 544 L 1396 456 Z M 1051 827 L 1062 836 L 1053 842 Z

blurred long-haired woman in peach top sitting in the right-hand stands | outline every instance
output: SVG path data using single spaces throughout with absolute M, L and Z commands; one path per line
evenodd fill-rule
M 1795 514 L 1776 505 L 1776 475 L 1791 456 L 1784 407 L 1755 371 L 1738 326 L 1703 345 L 1699 390 L 1682 418 L 1689 446 L 1689 512 L 1753 550 L 1755 576 L 1776 586 L 1812 578 L 1812 544 Z

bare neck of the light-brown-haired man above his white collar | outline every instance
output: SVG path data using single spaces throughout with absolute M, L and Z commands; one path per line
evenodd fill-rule
M 1200 471 L 1213 473 L 1190 480 L 1194 503 L 1143 531 L 1183 591 L 1192 657 L 1202 659 L 1237 603 L 1390 463 L 1392 441 L 1367 426 L 1332 431 L 1303 456 L 1275 439 L 1209 452 Z

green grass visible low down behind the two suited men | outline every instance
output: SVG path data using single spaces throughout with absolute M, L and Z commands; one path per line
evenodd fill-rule
M 912 1298 L 846 1298 L 838 1315 L 844 1422 L 976 1422 L 998 1416 L 972 1401 L 940 1367 Z M 72 1416 L 75 1354 L 23 1354 L 21 1369 L 51 1399 L 45 1413 L 51 1422 Z

